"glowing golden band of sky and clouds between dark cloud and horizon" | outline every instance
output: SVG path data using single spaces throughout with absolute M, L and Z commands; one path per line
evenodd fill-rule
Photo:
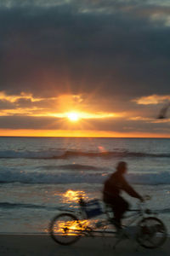
M 92 93 L 38 97 L 25 92 L 17 96 L 0 91 L 1 136 L 170 137 L 169 132 L 162 130 L 163 128 L 161 134 L 160 130 L 156 131 L 156 127 L 152 126 L 152 132 L 142 132 L 142 129 L 138 132 L 137 126 L 141 123 L 168 125 L 169 119 L 155 119 L 153 114 L 141 112 L 136 112 L 133 116 L 134 113 L 130 113 L 128 109 L 126 112 L 119 112 L 117 101 L 112 106 L 107 99 L 104 102 L 98 100 Z M 133 102 L 142 105 L 169 101 L 170 95 L 151 95 L 133 99 Z

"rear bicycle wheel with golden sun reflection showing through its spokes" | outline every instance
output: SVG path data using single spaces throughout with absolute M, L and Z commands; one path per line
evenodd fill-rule
M 70 245 L 81 236 L 81 224 L 71 213 L 61 213 L 55 216 L 49 225 L 49 234 L 62 245 Z

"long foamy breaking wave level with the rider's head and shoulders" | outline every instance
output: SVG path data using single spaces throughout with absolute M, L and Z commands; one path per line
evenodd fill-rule
M 26 172 L 6 169 L 0 172 L 0 183 L 68 184 L 104 183 L 108 172 Z M 133 184 L 170 184 L 170 172 L 129 172 L 127 180 Z

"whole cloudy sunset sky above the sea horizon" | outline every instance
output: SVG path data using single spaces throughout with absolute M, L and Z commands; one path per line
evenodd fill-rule
M 170 137 L 169 0 L 1 0 L 0 135 Z

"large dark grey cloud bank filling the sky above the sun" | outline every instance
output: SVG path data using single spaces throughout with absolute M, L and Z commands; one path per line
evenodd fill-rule
M 9 2 L 10 8 L 0 8 L 1 90 L 37 96 L 96 90 L 128 99 L 169 90 L 170 28 L 150 20 L 154 9 L 166 16 L 168 7 Z

